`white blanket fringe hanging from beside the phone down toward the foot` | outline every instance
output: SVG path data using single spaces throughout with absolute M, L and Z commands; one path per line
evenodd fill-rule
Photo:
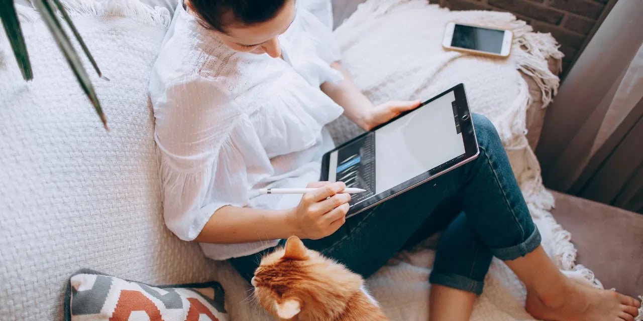
M 534 33 L 532 27 L 525 21 L 513 17 L 511 29 L 514 32 L 512 59 L 514 59 L 516 69 L 536 82 L 541 91 L 543 108 L 545 108 L 552 102 L 560 85 L 558 76 L 552 73 L 549 68 L 548 59 L 553 58 L 556 61 L 555 71 L 559 72 L 563 53 L 558 50 L 556 39 L 552 35 L 549 33 Z M 556 222 L 554 216 L 550 213 L 550 210 L 554 207 L 554 196 L 543 186 L 540 164 L 533 150 L 529 148 L 525 135 L 518 133 L 521 128 L 526 128 L 525 117 L 521 117 L 521 115 L 524 115 L 530 103 L 527 83 L 523 78 L 520 78 L 520 80 L 520 91 L 512 104 L 512 108 L 509 108 L 509 110 L 515 110 L 515 112 L 513 115 L 503 117 L 503 119 L 508 119 L 512 123 L 502 125 L 509 126 L 510 129 L 507 134 L 519 134 L 516 135 L 517 137 L 503 137 L 503 141 L 508 144 L 507 149 L 521 150 L 524 148 L 528 153 L 527 157 L 523 158 L 527 161 L 526 168 L 518 177 L 525 201 L 532 216 L 545 221 L 551 227 L 549 232 L 552 236 L 552 242 L 556 246 L 552 248 L 550 255 L 560 260 L 559 267 L 563 272 L 568 277 L 583 279 L 596 288 L 603 288 L 592 270 L 583 265 L 575 264 L 577 250 L 571 242 L 572 236 L 570 232 L 563 229 Z

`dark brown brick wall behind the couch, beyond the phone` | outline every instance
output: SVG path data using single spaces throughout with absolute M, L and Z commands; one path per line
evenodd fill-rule
M 601 16 L 609 0 L 430 0 L 451 10 L 496 10 L 511 12 L 534 30 L 550 32 L 565 53 L 567 70 Z

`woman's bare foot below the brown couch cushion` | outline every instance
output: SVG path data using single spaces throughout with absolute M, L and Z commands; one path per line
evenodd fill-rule
M 634 321 L 638 300 L 611 290 L 599 290 L 567 280 L 551 295 L 527 291 L 530 315 L 551 321 Z

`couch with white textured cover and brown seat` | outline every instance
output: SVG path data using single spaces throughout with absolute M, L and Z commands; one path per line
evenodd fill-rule
M 173 8 L 171 1 L 143 2 L 160 7 L 132 4 L 127 21 L 98 6 L 93 12 L 103 15 L 100 23 L 75 17 L 112 79 L 93 76 L 110 132 L 37 17 L 23 12 L 35 57 L 32 83 L 21 80 L 0 39 L 0 320 L 60 319 L 64 286 L 80 268 L 152 284 L 217 279 L 226 288 L 242 282 L 221 268 L 227 263 L 206 259 L 198 245 L 180 241 L 163 225 L 147 78 Z M 357 2 L 334 1 L 335 21 Z M 529 141 L 535 146 L 545 106 L 533 83 L 530 92 Z M 643 216 L 555 195 L 554 215 L 572 232 L 579 263 L 607 288 L 638 294 Z M 242 299 L 243 293 L 226 294 L 227 304 Z

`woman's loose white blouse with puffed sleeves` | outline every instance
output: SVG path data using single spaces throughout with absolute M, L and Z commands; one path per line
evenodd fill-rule
M 195 239 L 225 205 L 286 209 L 301 195 L 260 195 L 267 187 L 305 187 L 320 178 L 333 147 L 324 125 L 343 109 L 321 92 L 341 73 L 330 28 L 298 4 L 279 37 L 284 59 L 239 53 L 179 5 L 150 76 L 163 213 L 167 227 Z M 216 223 L 216 221 L 214 222 Z M 201 243 L 228 259 L 278 240 Z

